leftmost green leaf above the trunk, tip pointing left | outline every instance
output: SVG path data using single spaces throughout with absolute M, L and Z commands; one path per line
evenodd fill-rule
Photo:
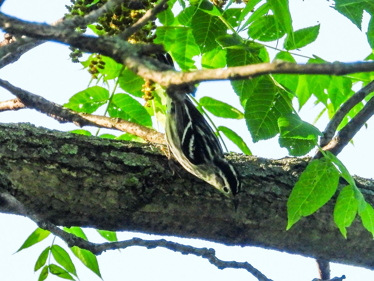
M 64 106 L 77 112 L 93 113 L 107 103 L 108 99 L 109 92 L 107 89 L 93 86 L 73 95 Z

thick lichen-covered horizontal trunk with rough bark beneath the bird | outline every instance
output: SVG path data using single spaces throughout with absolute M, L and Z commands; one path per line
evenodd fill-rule
M 1 124 L 0 143 L 0 192 L 56 225 L 255 245 L 374 269 L 370 233 L 355 221 L 344 239 L 332 219 L 334 202 L 285 230 L 287 198 L 306 158 L 230 155 L 245 190 L 235 210 L 230 199 L 168 161 L 161 146 L 30 124 Z M 374 204 L 373 181 L 356 180 Z M 0 211 L 17 214 L 4 202 Z

